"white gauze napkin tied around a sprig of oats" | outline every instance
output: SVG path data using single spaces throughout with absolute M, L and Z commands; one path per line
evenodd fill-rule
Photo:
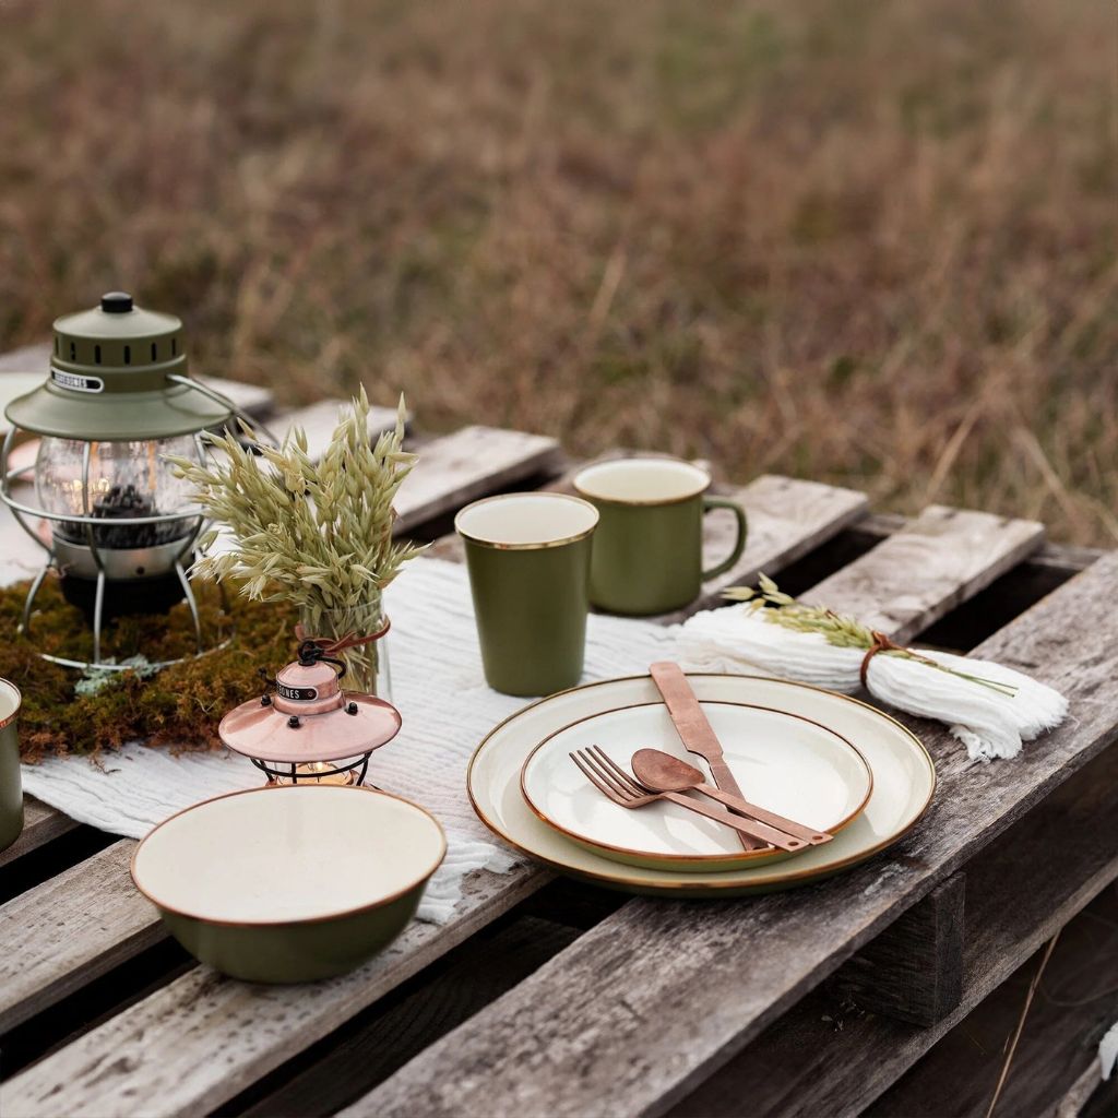
M 754 671 L 852 693 L 862 684 L 864 647 L 831 644 L 822 633 L 766 619 L 757 603 L 695 614 L 680 631 L 678 659 L 702 671 Z M 920 651 L 942 667 L 1005 690 L 963 679 L 883 648 L 870 657 L 865 684 L 880 702 L 945 722 L 973 759 L 1016 757 L 1023 741 L 1059 726 L 1068 700 L 1052 688 L 987 660 Z

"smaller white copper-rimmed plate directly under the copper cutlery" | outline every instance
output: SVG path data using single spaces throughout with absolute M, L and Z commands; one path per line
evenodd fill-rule
M 831 833 L 865 806 L 873 787 L 870 767 L 833 730 L 767 707 L 728 702 L 702 707 L 727 764 L 755 804 Z M 524 799 L 549 826 L 603 858 L 703 873 L 797 856 L 773 847 L 747 852 L 736 831 L 679 804 L 661 800 L 635 811 L 615 804 L 570 759 L 572 750 L 590 746 L 601 748 L 626 771 L 636 750 L 662 749 L 694 765 L 712 781 L 705 761 L 683 747 L 662 702 L 591 714 L 544 738 L 521 769 Z M 698 793 L 688 796 L 718 806 Z

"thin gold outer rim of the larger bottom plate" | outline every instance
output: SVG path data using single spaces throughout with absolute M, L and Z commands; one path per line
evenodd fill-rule
M 728 672 L 688 672 L 688 676 L 689 679 L 690 678 L 732 679 L 733 674 Z M 530 702 L 527 705 L 521 707 L 520 710 L 518 710 L 515 713 L 510 714 L 506 719 L 502 720 L 496 726 L 494 726 L 493 729 L 490 730 L 490 732 L 486 733 L 485 737 L 482 738 L 482 740 L 479 742 L 477 748 L 473 751 L 473 755 L 470 758 L 470 765 L 466 767 L 466 793 L 470 796 L 470 804 L 474 809 L 474 814 L 482 821 L 482 823 L 485 824 L 485 826 L 490 828 L 490 831 L 493 832 L 493 834 L 498 835 L 500 839 L 503 839 L 510 846 L 513 847 L 513 850 L 519 850 L 520 853 L 523 854 L 525 858 L 530 858 L 533 862 L 540 862 L 543 865 L 550 865 L 552 869 L 558 870 L 560 873 L 570 874 L 571 877 L 579 878 L 584 881 L 600 881 L 604 882 L 605 884 L 627 885 L 637 890 L 654 889 L 656 892 L 660 893 L 674 892 L 676 890 L 681 892 L 689 891 L 691 893 L 721 892 L 722 890 L 727 889 L 748 888 L 748 885 L 743 885 L 740 881 L 727 881 L 724 883 L 705 882 L 705 881 L 695 882 L 695 881 L 689 881 L 683 875 L 680 877 L 679 881 L 671 881 L 671 882 L 661 881 L 653 883 L 648 881 L 643 881 L 641 878 L 623 878 L 619 874 L 598 873 L 595 870 L 584 870 L 584 869 L 572 868 L 565 862 L 558 862 L 555 859 L 546 858 L 542 854 L 537 854 L 534 851 L 529 850 L 527 846 L 522 846 L 511 835 L 506 834 L 491 818 L 489 818 L 489 816 L 482 811 L 481 806 L 477 803 L 477 799 L 474 796 L 474 789 L 471 781 L 471 776 L 473 774 L 474 764 L 476 762 L 477 757 L 480 756 L 481 751 L 485 748 L 486 742 L 490 740 L 490 738 L 493 737 L 494 733 L 496 733 L 499 730 L 502 730 L 513 719 L 519 718 L 521 714 L 524 713 L 524 711 L 531 710 L 533 707 L 539 707 L 541 703 L 546 703 L 549 700 L 555 699 L 556 695 L 571 694 L 575 691 L 588 691 L 590 688 L 599 688 L 609 683 L 627 683 L 636 680 L 646 680 L 646 679 L 650 679 L 650 676 L 622 675 L 613 680 L 596 680 L 594 683 L 582 683 L 577 688 L 568 688 L 566 691 L 557 691 L 555 694 L 544 695 L 542 699 L 537 699 L 536 702 Z M 774 675 L 754 675 L 749 676 L 749 679 L 760 680 L 766 683 L 786 684 L 790 682 L 788 680 L 779 680 Z M 822 694 L 828 694 L 828 695 L 834 695 L 835 698 L 839 699 L 844 699 L 847 702 L 853 703 L 855 707 L 864 707 L 866 710 L 872 711 L 874 714 L 878 714 L 881 718 L 883 718 L 887 722 L 892 722 L 892 724 L 896 726 L 897 729 L 904 735 L 904 737 L 911 739 L 912 743 L 923 755 L 925 759 L 928 762 L 928 768 L 931 773 L 931 785 L 928 789 L 927 799 L 925 799 L 923 804 L 920 805 L 920 809 L 916 813 L 916 815 L 912 818 L 912 822 L 909 823 L 908 826 L 902 827 L 900 831 L 898 831 L 893 835 L 890 835 L 883 842 L 880 842 L 874 846 L 870 846 L 858 854 L 851 855 L 850 858 L 843 859 L 839 862 L 827 865 L 825 869 L 800 870 L 796 873 L 788 873 L 780 879 L 780 881 L 778 882 L 779 884 L 785 884 L 787 882 L 793 882 L 793 881 L 799 881 L 803 879 L 817 878 L 824 874 L 831 874 L 833 872 L 837 872 L 839 870 L 843 870 L 849 865 L 858 865 L 860 862 L 864 862 L 868 859 L 873 858 L 874 854 L 880 854 L 881 851 L 887 850 L 889 846 L 892 846 L 893 843 L 897 843 L 901 839 L 903 839 L 910 831 L 912 831 L 912 828 L 920 822 L 920 819 L 923 818 L 925 813 L 928 811 L 928 806 L 931 804 L 932 797 L 936 794 L 936 785 L 938 784 L 939 780 L 938 774 L 936 773 L 936 762 L 931 759 L 931 755 L 928 752 L 928 750 L 925 749 L 923 742 L 920 741 L 920 739 L 911 730 L 909 730 L 908 727 L 902 726 L 900 722 L 898 722 L 896 718 L 890 718 L 883 711 L 878 710 L 877 707 L 873 707 L 868 702 L 862 702 L 861 699 L 855 699 L 853 698 L 853 695 L 844 695 L 839 691 L 828 691 L 826 688 L 813 686 L 811 683 L 797 682 L 795 685 L 804 688 L 807 691 L 818 691 Z M 619 865 L 620 863 L 616 864 Z M 672 871 L 665 870 L 664 872 L 670 873 Z M 730 871 L 730 875 L 735 875 L 732 870 Z M 776 884 L 776 882 L 774 882 L 774 884 Z

